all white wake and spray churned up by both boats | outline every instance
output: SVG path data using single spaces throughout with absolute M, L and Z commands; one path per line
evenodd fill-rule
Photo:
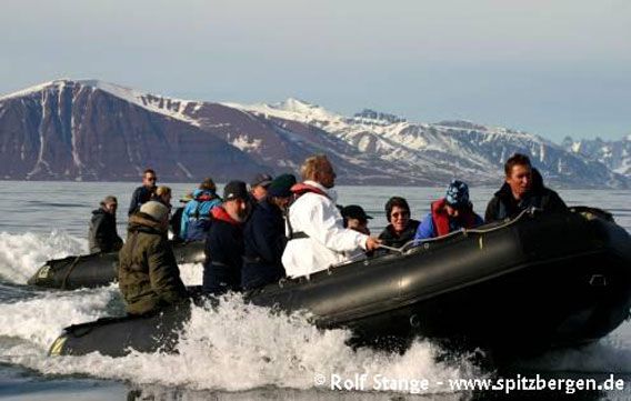
M 61 231 L 50 234 L 0 233 L 0 280 L 14 291 L 46 260 L 84 253 L 87 242 Z M 201 282 L 201 267 L 184 264 L 182 278 Z M 0 285 L 1 287 L 1 285 Z M 4 288 L 0 288 L 4 291 Z M 267 308 L 227 297 L 218 308 L 193 307 L 181 332 L 178 353 L 124 358 L 92 353 L 48 357 L 64 327 L 120 315 L 123 304 L 116 284 L 76 291 L 30 291 L 0 303 L 0 363 L 33 369 L 42 374 L 81 374 L 101 379 L 190 390 L 248 391 L 261 388 L 314 389 L 314 378 L 353 379 L 367 374 L 398 380 L 481 378 L 488 373 L 469 355 L 440 359 L 443 351 L 417 340 L 403 354 L 357 349 L 348 330 L 322 331 L 302 314 L 274 314 Z M 519 347 L 519 344 L 515 344 Z M 628 321 L 597 344 L 550 352 L 523 361 L 527 370 L 547 372 L 631 373 L 631 323 Z M 444 389 L 437 389 L 444 391 Z

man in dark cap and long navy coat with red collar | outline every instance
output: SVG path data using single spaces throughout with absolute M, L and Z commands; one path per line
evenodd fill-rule
M 207 293 L 221 294 L 241 288 L 243 222 L 250 209 L 249 199 L 243 181 L 230 181 L 223 188 L 223 203 L 211 211 L 203 263 L 202 289 Z

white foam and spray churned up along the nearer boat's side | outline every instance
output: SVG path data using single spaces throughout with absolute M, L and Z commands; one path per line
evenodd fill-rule
M 355 373 L 397 379 L 444 380 L 479 375 L 465 359 L 435 362 L 435 345 L 417 341 L 404 354 L 352 350 L 347 330 L 322 331 L 303 315 L 273 314 L 267 308 L 227 298 L 217 309 L 194 307 L 181 333 L 178 354 L 131 353 L 124 358 L 46 355 L 60 329 L 93 320 L 107 311 L 113 289 L 50 294 L 2 304 L 0 361 L 44 374 L 89 374 L 134 383 L 177 385 L 194 390 L 241 391 L 262 387 L 309 389 L 317 373 L 352 378 Z M 43 310 L 43 312 L 42 312 Z M 34 318 L 32 314 L 39 317 Z M 369 379 L 370 380 L 370 379 Z

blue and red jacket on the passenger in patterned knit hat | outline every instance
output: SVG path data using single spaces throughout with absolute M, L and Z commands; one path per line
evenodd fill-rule
M 419 224 L 414 240 L 447 235 L 452 231 L 472 229 L 484 222 L 473 210 L 461 210 L 458 219 L 450 219 L 444 207 L 444 198 L 432 203 L 431 212 Z

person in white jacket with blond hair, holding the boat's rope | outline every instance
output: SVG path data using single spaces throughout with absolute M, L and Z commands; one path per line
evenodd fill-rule
M 291 189 L 298 199 L 289 208 L 289 241 L 282 254 L 288 277 L 309 275 L 379 247 L 380 240 L 343 227 L 331 190 L 335 172 L 325 156 L 308 158 L 300 172 L 304 181 Z

